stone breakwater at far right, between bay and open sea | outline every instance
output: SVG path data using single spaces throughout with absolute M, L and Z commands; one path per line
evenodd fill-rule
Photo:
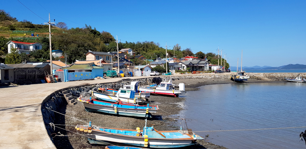
M 285 81 L 284 78 L 306 78 L 306 73 L 249 73 L 250 79 Z

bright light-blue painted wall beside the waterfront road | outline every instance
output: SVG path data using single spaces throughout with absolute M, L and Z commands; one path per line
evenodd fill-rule
M 92 69 L 91 72 L 68 72 L 68 70 L 64 69 L 65 82 L 103 77 L 103 70 L 104 69 Z

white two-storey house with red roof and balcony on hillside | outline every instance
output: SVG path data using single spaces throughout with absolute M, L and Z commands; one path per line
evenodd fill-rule
M 16 48 L 19 54 L 25 53 L 30 54 L 34 50 L 39 50 L 42 48 L 42 44 L 38 42 L 29 43 L 29 42 L 20 42 L 20 41 L 9 41 L 7 44 L 8 53 L 11 53 L 11 48 Z

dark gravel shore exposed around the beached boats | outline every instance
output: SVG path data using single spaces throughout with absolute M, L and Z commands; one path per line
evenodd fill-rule
M 261 80 L 249 80 L 248 82 L 275 82 L 275 81 L 261 81 Z M 235 83 L 231 80 L 221 80 L 221 79 L 180 79 L 174 80 L 174 84 L 185 83 L 185 91 L 199 90 L 197 87 L 203 85 L 211 84 L 225 84 L 225 83 Z M 178 114 L 182 108 L 180 103 L 183 104 L 185 98 L 183 97 L 163 97 L 163 96 L 151 96 L 151 105 L 158 105 L 159 110 L 157 113 L 153 113 L 153 118 L 148 118 L 147 126 L 154 125 L 154 128 L 159 131 L 164 130 L 178 130 L 179 126 L 182 126 L 183 121 L 174 117 L 173 115 Z M 92 121 L 92 124 L 109 127 L 109 128 L 123 128 L 123 129 L 136 129 L 136 127 L 144 127 L 145 120 L 144 118 L 134 118 L 134 117 L 118 117 L 114 115 L 106 115 L 100 113 L 89 113 L 85 111 L 84 105 L 82 102 L 79 102 L 76 105 L 64 105 L 61 107 L 61 113 L 69 116 L 65 117 L 59 115 L 57 117 L 59 123 L 63 126 L 58 126 L 57 132 L 60 132 L 64 135 L 76 135 L 76 129 L 74 128 L 77 124 L 84 124 L 84 122 L 78 121 Z M 74 117 L 76 119 L 72 119 Z M 178 120 L 177 120 L 178 119 Z M 66 126 L 64 126 L 66 125 Z M 71 126 L 68 126 L 71 125 Z M 53 135 L 54 136 L 54 135 Z M 202 136 L 205 137 L 205 136 Z M 54 144 L 57 148 L 96 148 L 104 149 L 105 146 L 102 145 L 93 145 L 88 143 L 88 140 L 84 136 L 56 136 L 54 137 Z M 218 146 L 213 143 L 210 143 L 204 140 L 196 141 L 195 145 L 182 147 L 184 149 L 192 148 L 207 148 L 207 149 L 226 149 L 226 147 Z

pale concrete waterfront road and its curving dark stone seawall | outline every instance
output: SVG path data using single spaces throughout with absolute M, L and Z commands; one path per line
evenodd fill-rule
M 147 85 L 169 79 L 230 79 L 230 75 L 231 73 L 211 73 L 130 78 Z M 250 76 L 256 80 L 283 81 L 286 77 L 305 78 L 306 73 L 250 73 Z M 132 81 L 126 79 L 129 78 L 1 87 L 0 99 L 3 102 L 0 103 L 0 126 L 5 127 L 10 133 L 0 131 L 0 148 L 55 148 L 50 134 L 56 131 L 53 131 L 49 123 L 56 124 L 57 114 L 47 108 L 52 106 L 52 110 L 58 111 L 62 105 L 67 104 L 61 94 L 63 91 L 68 90 L 70 94 L 77 96 L 82 87 L 94 89 L 97 84 L 101 87 L 118 89 Z M 15 140 L 14 143 L 12 140 Z

